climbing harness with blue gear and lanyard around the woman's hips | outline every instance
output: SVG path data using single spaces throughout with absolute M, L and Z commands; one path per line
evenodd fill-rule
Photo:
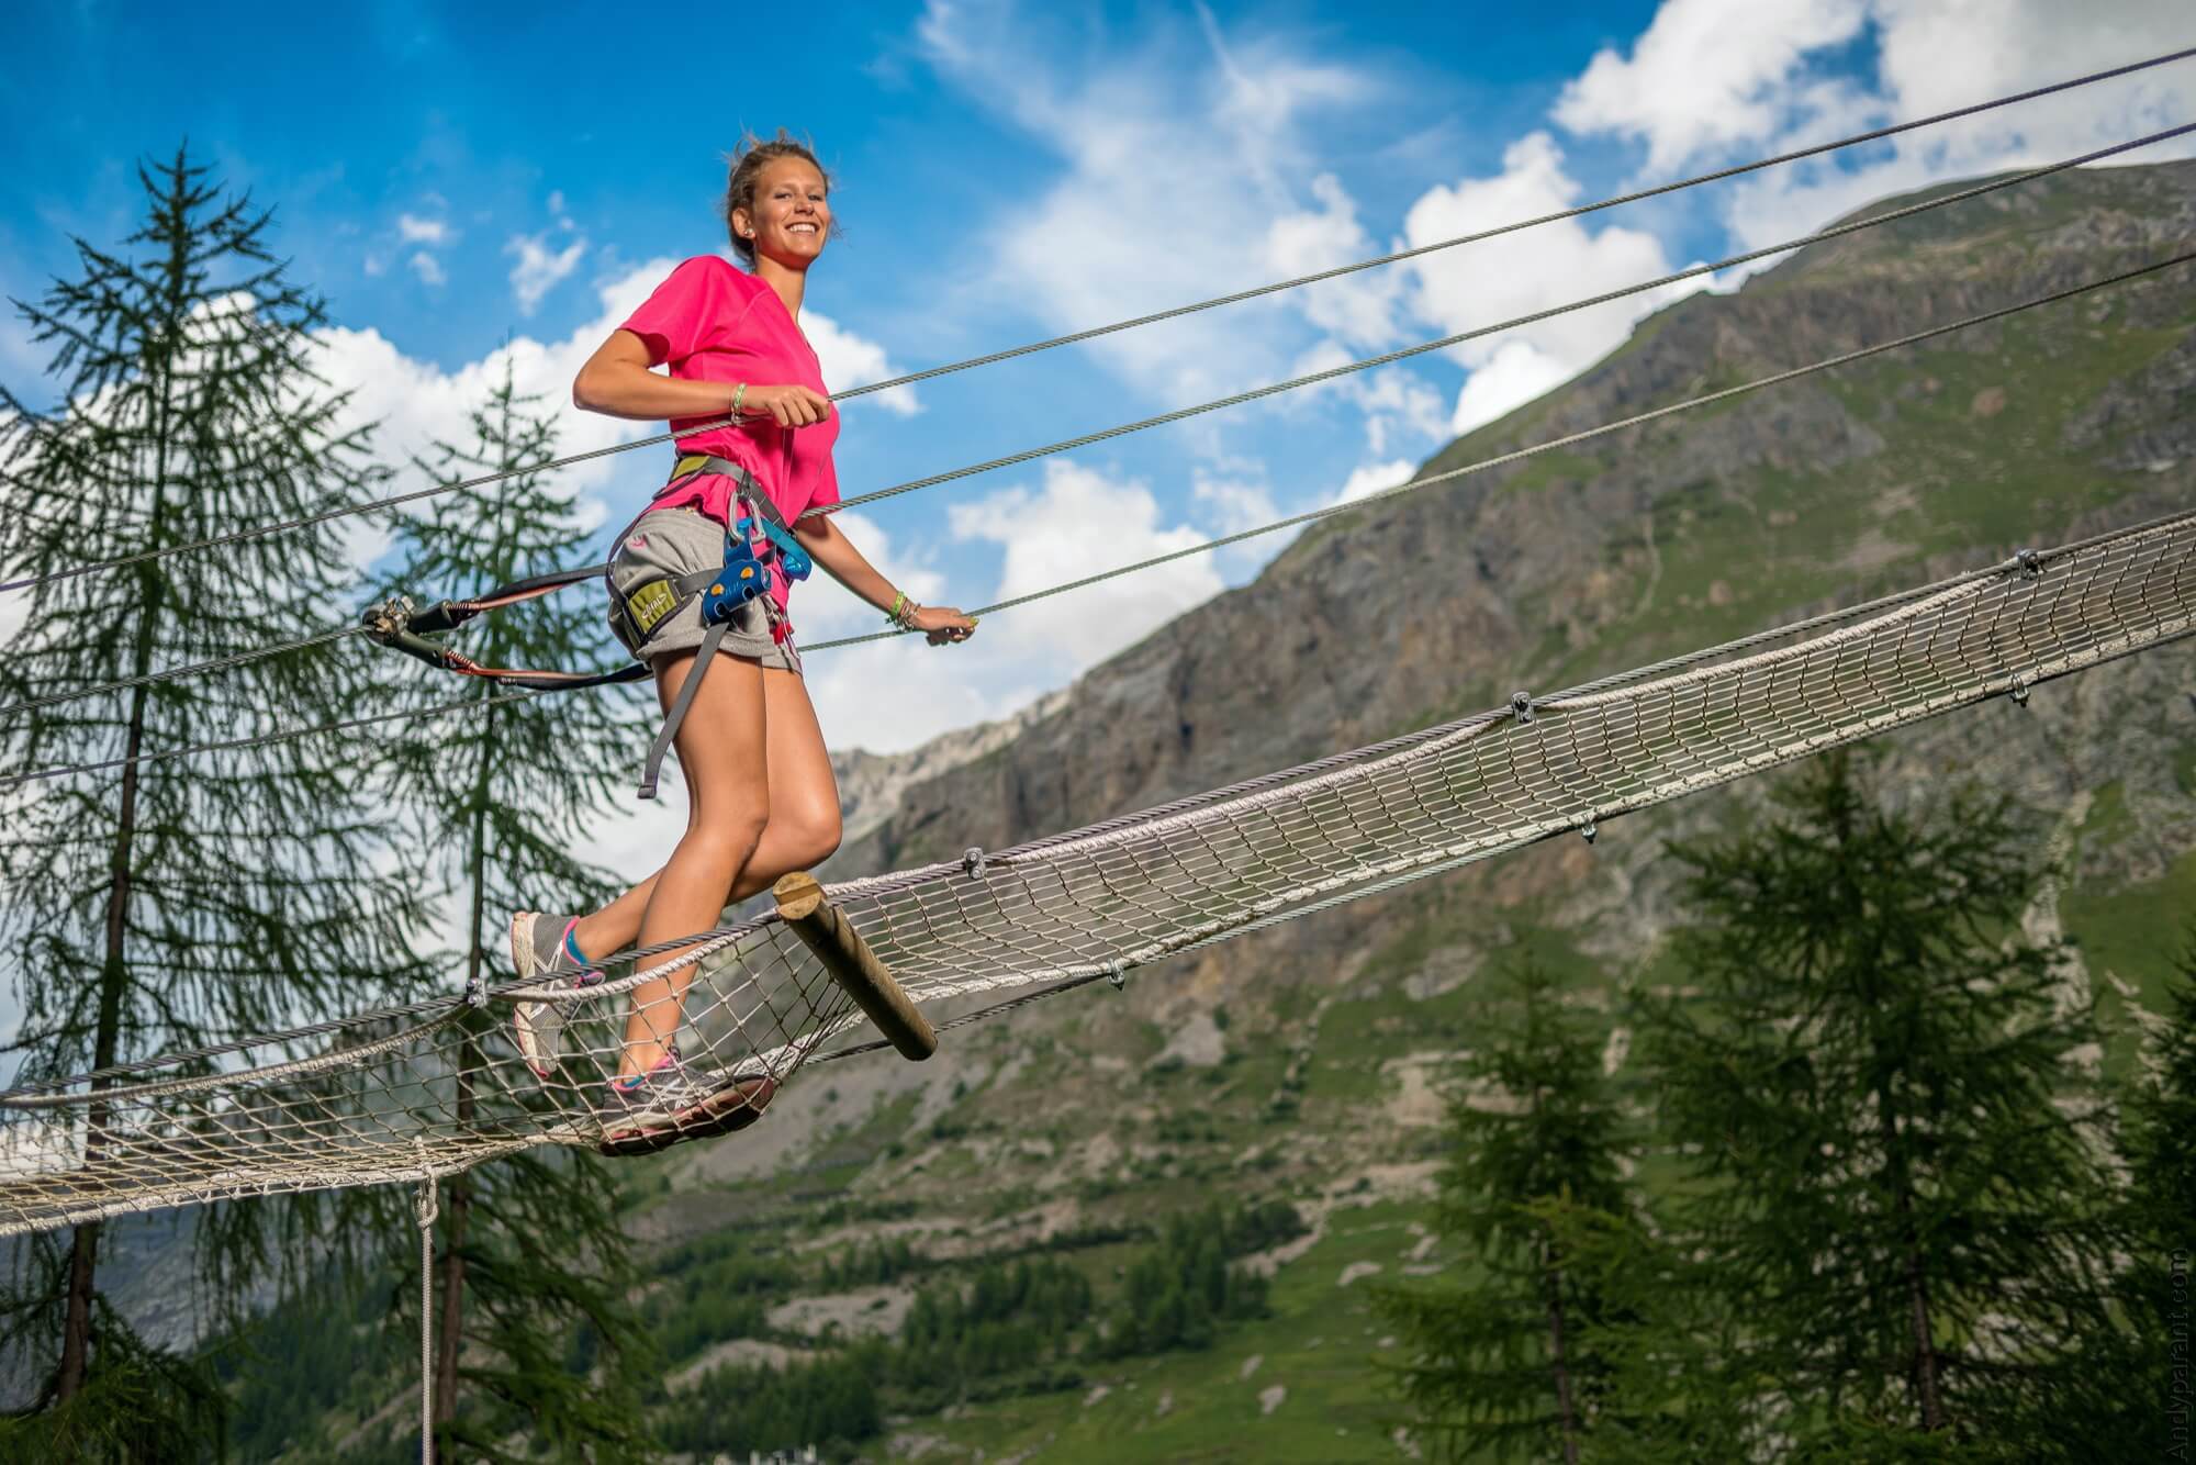
M 652 799 L 657 797 L 663 753 L 670 749 L 681 723 L 685 723 L 687 707 L 694 705 L 694 694 L 701 690 L 701 679 L 716 659 L 725 633 L 731 630 L 733 619 L 749 602 L 762 606 L 771 641 L 784 648 L 793 670 L 802 666 L 799 652 L 793 648 L 793 622 L 786 619 L 771 589 L 773 575 L 782 575 L 786 582 L 806 580 L 815 569 L 815 560 L 802 549 L 802 543 L 793 536 L 793 525 L 771 503 L 755 474 L 731 459 L 712 452 L 681 455 L 672 468 L 670 483 L 663 485 L 657 499 L 703 474 L 725 474 L 733 481 L 731 527 L 725 529 L 725 558 L 712 569 L 696 569 L 683 575 L 663 573 L 619 591 L 617 582 L 610 580 L 610 564 L 589 564 L 586 569 L 512 580 L 472 600 L 439 600 L 424 611 L 413 606 L 408 595 L 391 595 L 376 606 L 367 606 L 362 613 L 360 619 L 367 637 L 459 676 L 485 676 L 488 681 L 538 692 L 600 687 L 621 681 L 646 681 L 652 674 L 648 641 L 698 597 L 705 633 L 694 672 L 679 687 L 679 696 L 672 698 L 670 712 L 663 714 L 663 727 L 648 745 L 648 758 L 641 764 L 639 797 Z M 624 543 L 635 525 L 652 512 L 652 505 L 654 501 L 650 501 L 650 510 L 641 510 L 632 523 L 619 529 L 613 543 Z M 597 575 L 610 591 L 610 630 L 632 655 L 632 663 L 615 672 L 549 672 L 481 666 L 472 657 L 428 639 L 430 635 L 457 630 L 474 615 L 501 611 L 536 595 L 549 595 L 551 591 L 562 591 L 569 584 L 582 584 Z

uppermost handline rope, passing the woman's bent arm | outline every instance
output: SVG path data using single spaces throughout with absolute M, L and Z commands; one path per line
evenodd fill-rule
M 1889 138 L 1889 136 L 1895 136 L 1895 134 L 1902 134 L 1902 132 L 1913 132 L 1913 130 L 1919 130 L 1919 127 L 1932 127 L 1932 125 L 1957 121 L 1957 119 L 1963 119 L 1963 116 L 1974 116 L 1979 112 L 1992 112 L 1996 108 L 2007 108 L 2007 105 L 2016 105 L 2016 103 L 2023 103 L 2023 101 L 2033 101 L 2038 97 L 2049 97 L 2053 92 L 2064 92 L 2064 90 L 2091 86 L 2095 81 L 2108 81 L 2108 79 L 2124 77 L 2124 75 L 2130 75 L 2130 72 L 2148 70 L 2152 66 L 2167 66 L 2172 61 L 2189 59 L 2192 55 L 2196 55 L 2196 46 L 2189 46 L 2189 48 L 2183 48 L 2183 51 L 2170 51 L 2165 55 L 2148 57 L 2143 61 L 2130 61 L 2126 66 L 2115 66 L 2115 68 L 2108 68 L 2108 70 L 2088 72 L 2084 77 L 2073 77 L 2069 81 L 2055 81 L 2051 86 L 2031 88 L 2027 92 L 2012 92 L 2012 94 L 2005 94 L 2005 97 L 1996 97 L 1992 101 L 1981 101 L 1981 103 L 1972 103 L 1972 105 L 1965 105 L 1965 108 L 1954 108 L 1950 112 L 1935 112 L 1930 116 L 1919 116 L 1919 119 L 1913 119 L 1913 121 L 1906 121 L 1906 123 L 1893 123 L 1889 127 L 1875 127 L 1871 132 L 1856 132 L 1853 136 L 1838 138 L 1834 143 L 1820 143 L 1816 147 L 1801 147 L 1796 152 L 1777 154 L 1772 158 L 1761 158 L 1761 160 L 1755 160 L 1755 163 L 1744 163 L 1744 165 L 1717 169 L 1717 171 L 1711 171 L 1711 174 L 1698 174 L 1693 178 L 1682 178 L 1678 182 L 1658 184 L 1654 189 L 1640 189 L 1636 193 L 1621 193 L 1621 195 L 1605 198 L 1605 200 L 1594 202 L 1594 204 L 1579 204 L 1577 209 L 1566 209 L 1566 211 L 1559 211 L 1559 213 L 1546 213 L 1546 215 L 1537 215 L 1537 217 L 1531 217 L 1531 220 L 1517 220 L 1517 222 L 1511 222 L 1511 224 L 1498 224 L 1495 228 L 1487 228 L 1487 231 L 1471 233 L 1471 235 L 1458 235 L 1454 239 L 1443 239 L 1438 244 L 1427 244 L 1427 246 L 1419 246 L 1419 248 L 1412 248 L 1412 250 L 1401 250 L 1401 253 L 1394 253 L 1394 255 L 1381 255 L 1381 257 L 1366 259 L 1366 261 L 1359 261 L 1359 264 L 1353 264 L 1353 266 L 1337 266 L 1337 268 L 1331 268 L 1331 270 L 1320 270 L 1320 272 L 1313 272 L 1313 275 L 1302 275 L 1302 277 L 1296 277 L 1296 279 L 1276 281 L 1271 286 L 1258 286 L 1254 290 L 1241 290 L 1241 292 L 1234 292 L 1234 294 L 1214 297 L 1210 301 L 1197 301 L 1197 303 L 1190 303 L 1190 305 L 1177 305 L 1173 310 L 1153 312 L 1149 316 L 1135 316 L 1135 318 L 1118 321 L 1118 323 L 1111 323 L 1111 325 L 1098 325 L 1098 327 L 1089 327 L 1089 329 L 1083 329 L 1083 332 L 1072 332 L 1067 336 L 1054 336 L 1050 340 L 1039 340 L 1039 343 L 1032 343 L 1032 345 L 1026 345 L 1026 347 L 1012 347 L 1012 349 L 1006 349 L 1006 351 L 990 351 L 986 356 L 973 356 L 973 358 L 962 360 L 962 362 L 951 362 L 951 365 L 944 365 L 944 367 L 929 367 L 925 371 L 914 371 L 914 373 L 907 373 L 907 376 L 896 376 L 896 378 L 889 378 L 889 380 L 883 380 L 883 382 L 870 382 L 870 384 L 863 384 L 863 387 L 850 387 L 845 391 L 832 393 L 830 400 L 832 402 L 845 402 L 845 400 L 861 398 L 861 395 L 876 393 L 876 391 L 892 391 L 894 387 L 909 387 L 914 382 L 925 382 L 925 380 L 931 380 L 931 378 L 938 378 L 938 376 L 946 376 L 946 373 L 953 373 L 953 371 L 966 371 L 971 367 L 984 367 L 984 365 L 993 365 L 993 362 L 999 362 L 999 360 L 1010 360 L 1015 356 L 1030 356 L 1034 351 L 1047 351 L 1052 347 L 1074 345 L 1078 340 L 1089 340 L 1089 338 L 1107 336 L 1107 334 L 1122 332 L 1122 329 L 1135 329 L 1135 327 L 1142 327 L 1142 325 L 1153 325 L 1157 321 L 1168 321 L 1168 318 L 1175 318 L 1175 316 L 1195 314 L 1199 310 L 1212 310 L 1214 305 L 1230 305 L 1230 303 L 1254 299 L 1254 297 L 1261 297 L 1261 294 L 1274 294 L 1274 292 L 1280 292 L 1280 290 L 1293 290 L 1298 286 L 1309 286 L 1309 283 L 1318 283 L 1318 281 L 1324 281 L 1324 279 L 1335 279 L 1335 277 L 1348 275 L 1353 270 L 1366 270 L 1366 268 L 1375 268 L 1375 266 L 1383 266 L 1383 264 L 1394 264 L 1399 259 L 1410 259 L 1414 255 L 1423 255 L 1423 253 L 1432 253 L 1432 250 L 1441 250 L 1441 248 L 1454 248 L 1454 246 L 1463 246 L 1463 244 L 1476 244 L 1476 242 L 1482 242 L 1482 239 L 1493 239 L 1493 237 L 1500 237 L 1500 235 L 1517 233 L 1522 228 L 1535 228 L 1539 224 L 1555 224 L 1555 222 L 1579 217 L 1579 215 L 1586 215 L 1586 213 L 1596 213 L 1601 209 L 1614 209 L 1618 204 L 1629 204 L 1629 202 L 1638 202 L 1638 200 L 1647 200 L 1647 198 L 1658 198 L 1662 193 L 1676 193 L 1680 189 L 1691 189 L 1691 187 L 1706 184 L 1706 182 L 1719 182 L 1724 178 L 1737 178 L 1741 174 L 1752 174 L 1752 171 L 1759 171 L 1759 169 L 1766 169 L 1766 167 L 1777 167 L 1777 165 L 1783 165 L 1783 163 L 1799 163 L 1799 160 L 1814 158 L 1814 156 L 1820 156 L 1820 154 L 1827 154 L 1827 152 L 1838 152 L 1842 147 L 1858 147 L 1862 143 L 1878 143 L 1882 138 Z M 505 479 L 516 479 L 516 477 L 525 477 L 525 474 L 556 472 L 560 468 L 571 468 L 575 463 L 586 463 L 591 459 L 608 457 L 608 455 L 615 455 L 615 452 L 630 452 L 635 448 L 654 448 L 654 446 L 674 441 L 676 437 L 683 437 L 683 435 L 692 435 L 692 433 L 701 433 L 701 430 L 727 426 L 727 424 L 731 424 L 736 420 L 738 420 L 736 415 L 725 415 L 725 417 L 718 417 L 718 420 L 712 420 L 712 422 L 701 422 L 701 424 L 687 428 L 685 433 L 654 433 L 650 437 L 637 437 L 637 439 L 621 441 L 621 444 L 608 444 L 604 448 L 589 448 L 584 452 L 571 452 L 571 455 L 564 455 L 564 457 L 545 459 L 540 463 L 529 463 L 525 468 L 505 468 L 505 470 L 496 470 L 496 472 L 472 477 L 472 479 L 457 479 L 457 481 L 450 481 L 450 483 L 437 483 L 437 485 L 413 490 L 413 492 L 404 492 L 404 494 L 389 494 L 384 499 L 369 499 L 365 503 L 343 505 L 343 507 L 325 510 L 325 512 L 318 512 L 318 514 L 305 514 L 305 516 L 299 516 L 299 518 L 285 518 L 285 521 L 268 523 L 268 525 L 257 525 L 257 527 L 250 527 L 250 529 L 237 529 L 235 534 L 217 534 L 217 536 L 202 538 L 202 540 L 191 540 L 191 543 L 184 543 L 184 545 L 165 545 L 160 549 L 141 549 L 136 553 L 114 556 L 114 558 L 108 558 L 108 560 L 92 560 L 92 562 L 86 562 L 86 564 L 72 564 L 68 569 L 48 571 L 48 573 L 42 573 L 42 575 L 22 575 L 18 580 L 4 580 L 4 582 L 0 582 L 0 595 L 4 595 L 9 591 L 26 591 L 26 589 L 44 586 L 44 584 L 57 584 L 61 580 L 75 580 L 79 575 L 92 575 L 92 573 L 99 573 L 99 571 L 123 569 L 123 567 L 130 567 L 130 564 L 143 564 L 147 560 L 160 560 L 160 558 L 169 558 L 169 556 L 178 556 L 178 553 L 193 553 L 193 551 L 200 551 L 200 549 L 217 549 L 217 547 L 235 545 L 235 543 L 250 540 L 250 538 L 264 538 L 268 534 L 285 534 L 290 529 L 305 529 L 305 527 L 312 527 L 312 525 L 329 523 L 329 521 L 336 521 L 336 518 L 347 518 L 347 516 L 354 516 L 354 514 L 371 514 L 371 512 L 378 512 L 378 510 L 389 510 L 389 507 L 400 507 L 400 505 L 406 505 L 406 503 L 417 503 L 419 499 L 433 499 L 437 494 L 452 494 L 452 492 L 461 492 L 461 490 L 470 490 L 470 488 L 488 488 L 492 483 L 501 483 Z

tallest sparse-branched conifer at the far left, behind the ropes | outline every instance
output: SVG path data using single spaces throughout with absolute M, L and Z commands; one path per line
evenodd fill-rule
M 77 239 L 79 272 L 15 307 L 53 349 L 59 406 L 0 391 L 0 564 L 51 575 L 253 529 L 362 494 L 365 433 L 312 369 L 323 303 L 268 248 L 270 213 L 224 195 L 184 149 L 138 169 L 145 220 L 121 250 Z M 53 696 L 340 624 L 354 575 L 332 525 L 46 580 L 0 659 L 0 701 Z M 11 769 L 42 769 L 347 716 L 356 648 L 318 646 L 0 718 Z M 29 784 L 0 819 L 0 936 L 31 1017 L 26 1081 L 281 1028 L 400 995 L 413 916 L 380 870 L 362 751 L 299 738 Z M 94 1160 L 112 1109 L 86 1107 Z M 296 1201 L 198 1212 L 206 1296 L 244 1298 L 272 1261 L 323 1248 Z M 99 1294 L 99 1223 L 18 1252 L 18 1344 L 51 1366 L 42 1406 L 171 1447 L 204 1436 L 189 1388 Z M 143 1386 L 132 1386 L 136 1379 Z M 154 1379 L 154 1382 L 147 1382 Z M 114 1412 L 119 1410 L 119 1412 Z M 57 1432 L 75 1425 L 55 1421 Z

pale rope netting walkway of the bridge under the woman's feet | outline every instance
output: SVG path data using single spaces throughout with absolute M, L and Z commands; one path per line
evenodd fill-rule
M 2196 514 L 1522 701 L 957 863 L 834 885 L 925 1006 L 1056 991 L 1698 793 L 2196 630 Z M 685 993 L 665 984 L 692 980 Z M 608 1098 L 639 997 L 720 1098 Z M 567 1015 L 549 1078 L 512 1004 Z M 775 916 L 582 991 L 356 1019 L 0 1096 L 0 1234 L 198 1199 L 419 1179 L 531 1144 L 652 1149 L 753 1120 L 865 1019 Z M 837 1043 L 837 1045 L 834 1045 Z

